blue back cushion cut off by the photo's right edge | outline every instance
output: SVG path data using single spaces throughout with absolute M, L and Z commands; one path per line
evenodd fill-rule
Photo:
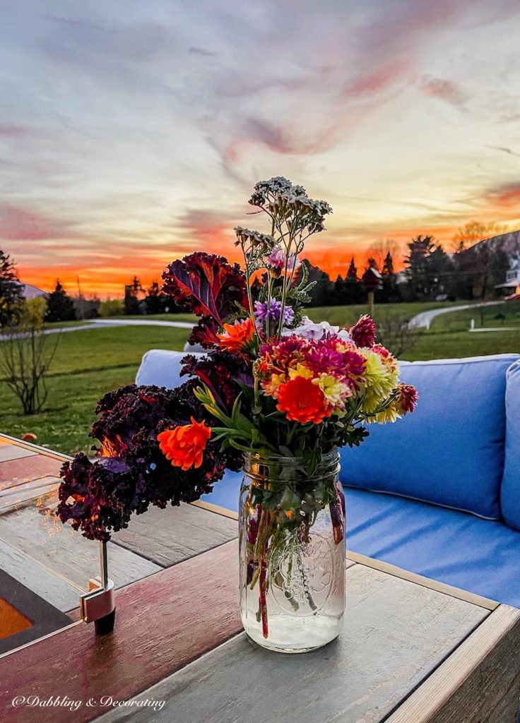
M 520 530 L 520 361 L 509 367 L 506 380 L 506 464 L 500 502 L 506 523 Z

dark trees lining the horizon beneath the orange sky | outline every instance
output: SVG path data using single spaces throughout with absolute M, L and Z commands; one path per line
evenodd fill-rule
M 503 233 L 506 228 L 495 223 L 466 224 L 453 236 L 453 252 L 446 252 L 433 236 L 419 235 L 406 244 L 404 256 L 398 244 L 388 240 L 372 244 L 367 262 L 358 267 L 351 257 L 344 275 L 331 279 L 319 266 L 304 260 L 309 280 L 315 282 L 310 292 L 312 306 L 344 306 L 362 304 L 367 293 L 362 275 L 367 268 L 380 274 L 380 288 L 375 291 L 376 304 L 397 304 L 400 301 L 432 301 L 435 299 L 487 299 L 495 294 L 495 286 L 504 281 L 510 266 L 508 255 L 491 244 L 479 244 L 486 235 Z M 397 271 L 396 268 L 400 268 Z M 301 271 L 299 272 L 301 273 Z M 0 328 L 17 322 L 23 301 L 23 287 L 18 281 L 14 262 L 0 249 Z M 124 288 L 124 299 L 108 299 L 101 303 L 101 316 L 155 315 L 175 313 L 173 299 L 165 296 L 158 281 L 142 286 L 134 276 Z M 97 315 L 97 312 L 93 312 Z M 58 280 L 46 295 L 46 322 L 70 321 L 77 318 L 74 304 Z

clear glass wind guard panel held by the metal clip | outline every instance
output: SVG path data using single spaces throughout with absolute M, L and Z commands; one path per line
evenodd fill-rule
M 101 575 L 98 542 L 56 516 L 63 461 L 0 436 L 0 653 L 78 620 Z

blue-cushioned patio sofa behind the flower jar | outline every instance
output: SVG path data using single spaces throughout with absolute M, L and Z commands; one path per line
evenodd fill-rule
M 181 352 L 145 354 L 138 384 L 179 384 Z M 401 362 L 419 406 L 341 450 L 347 547 L 520 607 L 520 355 Z M 205 499 L 236 511 L 241 476 Z

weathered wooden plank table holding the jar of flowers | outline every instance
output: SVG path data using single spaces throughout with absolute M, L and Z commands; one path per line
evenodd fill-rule
M 349 555 L 341 637 L 310 654 L 264 651 L 239 621 L 234 518 L 199 502 L 116 534 L 114 548 L 153 569 L 120 583 L 114 633 L 72 623 L 0 657 L 0 720 L 515 721 L 520 610 Z

